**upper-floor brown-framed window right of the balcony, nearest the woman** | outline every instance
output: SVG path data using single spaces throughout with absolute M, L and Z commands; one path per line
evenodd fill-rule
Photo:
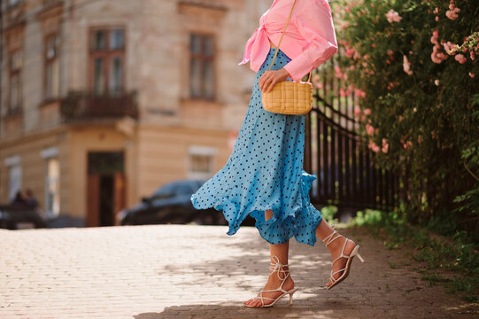
M 190 35 L 189 93 L 192 98 L 214 99 L 214 38 Z

